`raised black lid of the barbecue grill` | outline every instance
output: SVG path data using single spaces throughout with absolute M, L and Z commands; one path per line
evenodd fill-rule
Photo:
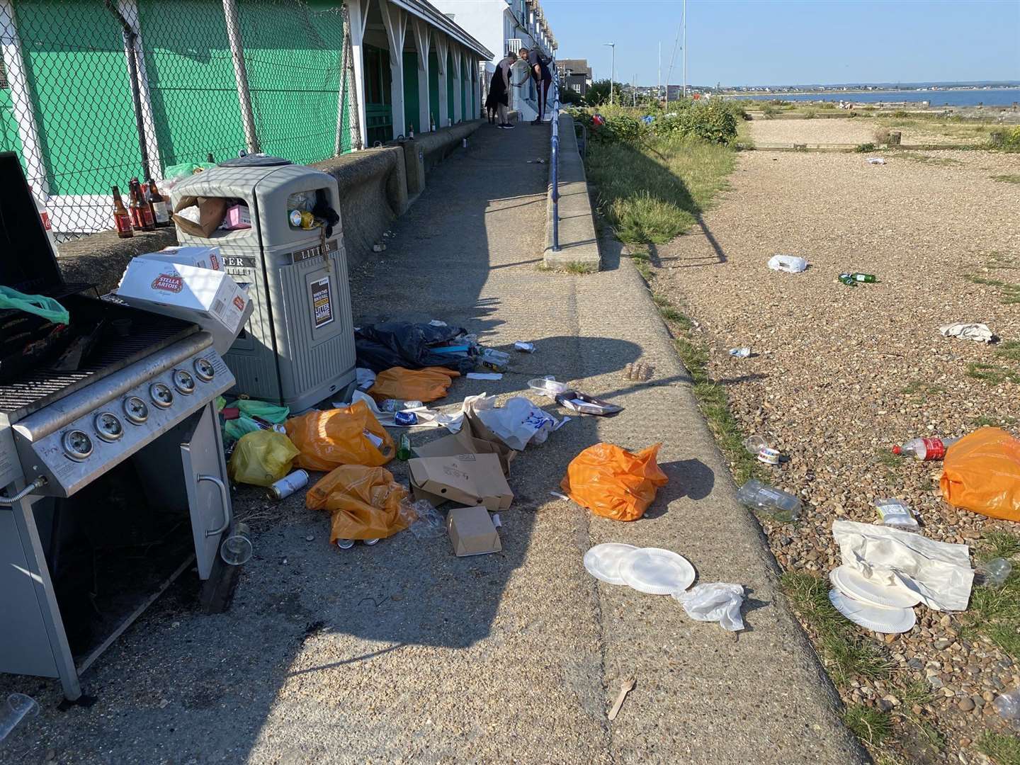
M 10 151 L 0 153 L 0 285 L 29 294 L 63 285 L 21 164 Z

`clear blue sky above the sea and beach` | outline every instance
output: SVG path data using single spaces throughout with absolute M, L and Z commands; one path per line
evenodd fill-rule
M 558 58 L 662 82 L 681 0 L 542 0 Z M 682 40 L 670 83 L 682 83 Z M 1020 81 L 1020 0 L 687 0 L 687 83 Z

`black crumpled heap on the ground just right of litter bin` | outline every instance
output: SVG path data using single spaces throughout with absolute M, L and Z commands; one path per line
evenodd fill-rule
M 474 359 L 435 353 L 434 346 L 449 345 L 450 341 L 466 329 L 461 326 L 435 326 L 412 324 L 406 321 L 388 321 L 366 324 L 354 333 L 354 346 L 358 366 L 381 372 L 394 366 L 422 369 L 426 366 L 445 366 L 466 373 L 474 369 Z

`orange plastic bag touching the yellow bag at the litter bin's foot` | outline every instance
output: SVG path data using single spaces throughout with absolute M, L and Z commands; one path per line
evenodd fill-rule
M 294 464 L 306 470 L 332 470 L 338 465 L 377 467 L 394 458 L 393 439 L 364 401 L 326 411 L 312 410 L 284 425 L 301 452 Z

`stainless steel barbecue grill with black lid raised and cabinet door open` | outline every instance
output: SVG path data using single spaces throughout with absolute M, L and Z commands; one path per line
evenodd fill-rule
M 0 285 L 69 314 L 32 317 L 27 346 L 6 337 L 0 357 L 0 671 L 59 677 L 73 700 L 153 591 L 192 561 L 209 577 L 232 524 L 214 401 L 235 379 L 197 324 L 62 280 L 11 153 Z

